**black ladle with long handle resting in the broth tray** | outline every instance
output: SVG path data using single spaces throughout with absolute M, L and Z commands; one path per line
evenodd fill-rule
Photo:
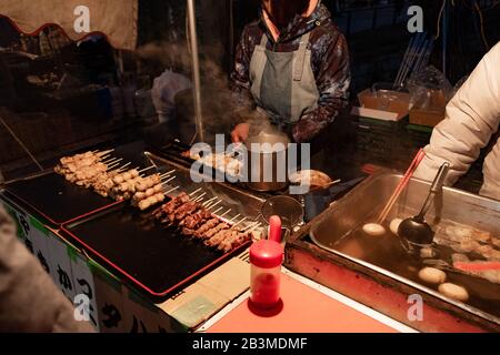
M 426 213 L 429 211 L 436 194 L 441 191 L 449 169 L 450 164 L 448 162 L 443 163 L 441 168 L 439 168 L 438 174 L 432 181 L 429 194 L 423 203 L 422 210 L 420 210 L 420 213 L 416 216 L 403 220 L 399 225 L 398 235 L 407 240 L 409 243 L 417 245 L 432 244 L 434 232 L 426 222 Z

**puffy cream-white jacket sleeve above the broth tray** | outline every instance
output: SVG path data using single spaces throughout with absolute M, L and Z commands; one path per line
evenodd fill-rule
M 446 184 L 452 185 L 478 159 L 500 120 L 500 42 L 488 52 L 448 103 L 446 118 L 433 130 L 426 158 L 414 176 L 432 180 L 451 163 Z M 499 176 L 500 178 L 500 176 Z

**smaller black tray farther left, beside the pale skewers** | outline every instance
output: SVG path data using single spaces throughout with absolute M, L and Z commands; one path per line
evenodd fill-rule
M 117 204 L 52 171 L 10 182 L 6 185 L 6 194 L 37 212 L 52 226 Z

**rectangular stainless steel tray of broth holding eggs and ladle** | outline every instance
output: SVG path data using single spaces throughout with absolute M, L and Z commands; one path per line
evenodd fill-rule
M 402 270 L 407 265 L 406 255 L 396 252 L 389 252 L 390 255 L 387 255 L 387 253 L 386 255 L 372 255 L 370 253 L 377 253 L 377 251 L 370 247 L 368 253 L 370 255 L 367 258 L 356 257 L 351 253 L 339 251 L 338 245 L 343 237 L 349 235 L 351 231 L 360 227 L 377 211 L 381 211 L 401 178 L 402 175 L 400 174 L 389 172 L 370 176 L 313 220 L 309 226 L 308 236 L 314 244 L 330 253 L 342 256 L 362 267 L 368 267 L 399 283 L 414 287 L 432 297 L 442 300 L 453 307 L 460 308 L 462 313 L 473 314 L 488 322 L 500 325 L 499 315 L 491 314 L 491 312 L 484 308 L 484 302 L 479 300 L 488 298 L 490 301 L 490 311 L 491 302 L 500 306 L 500 285 L 483 280 L 473 281 L 472 288 L 469 288 L 471 300 L 466 304 L 447 298 L 436 290 L 427 287 L 420 282 L 411 281 L 400 274 L 397 270 Z M 397 205 L 392 209 L 389 220 L 397 215 L 414 215 L 422 205 L 429 186 L 430 184 L 428 182 L 412 179 L 406 191 L 399 197 Z M 427 220 L 433 227 L 451 221 L 498 235 L 500 232 L 498 224 L 498 221 L 500 221 L 500 202 L 464 191 L 444 187 L 443 193 L 436 197 L 427 215 Z M 391 260 L 391 263 L 396 265 L 393 270 L 389 271 L 377 265 L 377 261 L 383 257 Z M 369 261 L 367 262 L 367 260 Z M 460 275 L 457 274 L 449 274 L 449 280 L 458 283 L 461 281 Z M 476 287 L 477 290 L 474 290 Z

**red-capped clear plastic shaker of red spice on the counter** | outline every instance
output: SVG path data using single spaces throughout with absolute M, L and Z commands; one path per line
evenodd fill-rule
M 250 247 L 250 302 L 259 310 L 271 310 L 280 303 L 283 247 L 263 240 Z

